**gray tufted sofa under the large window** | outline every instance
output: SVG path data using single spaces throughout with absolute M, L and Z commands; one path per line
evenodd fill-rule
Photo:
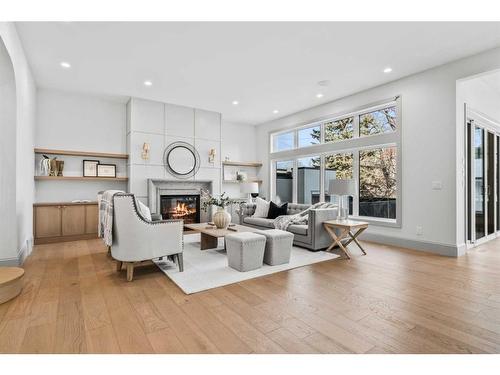
M 309 208 L 308 204 L 288 203 L 287 215 L 294 215 Z M 251 217 L 255 212 L 255 203 L 243 203 L 239 209 L 239 223 L 258 229 L 273 229 L 273 219 Z M 309 211 L 307 225 L 290 225 L 288 231 L 293 233 L 293 244 L 317 251 L 328 247 L 332 240 L 323 222 L 337 218 L 337 208 L 319 208 Z

